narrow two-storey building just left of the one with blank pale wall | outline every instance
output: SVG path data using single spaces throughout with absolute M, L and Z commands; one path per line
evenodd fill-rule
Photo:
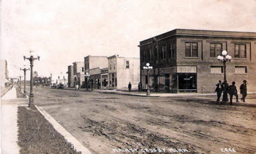
M 74 85 L 79 85 L 81 87 L 84 84 L 84 62 L 76 61 L 73 63 L 73 75 L 74 75 Z

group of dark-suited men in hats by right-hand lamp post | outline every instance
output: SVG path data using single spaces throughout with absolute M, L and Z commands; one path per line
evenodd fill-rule
M 222 96 L 223 92 L 223 102 L 228 102 L 228 94 L 230 96 L 230 105 L 232 105 L 232 98 L 233 96 L 236 96 L 236 102 L 238 101 L 238 95 L 237 95 L 237 89 L 235 86 L 235 82 L 232 82 L 232 85 L 229 85 L 226 80 L 222 83 L 222 81 L 219 81 L 218 84 L 216 84 L 216 92 L 217 92 L 217 102 L 219 103 L 220 97 Z M 241 100 L 245 102 L 245 98 L 247 95 L 247 85 L 246 85 L 246 80 L 243 81 L 243 83 L 240 85 L 240 94 L 242 94 Z

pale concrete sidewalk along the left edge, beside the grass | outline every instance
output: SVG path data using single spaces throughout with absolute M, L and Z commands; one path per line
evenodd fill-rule
M 19 153 L 18 146 L 18 106 L 26 104 L 26 98 L 16 98 L 16 89 L 8 91 L 1 98 L 1 152 Z

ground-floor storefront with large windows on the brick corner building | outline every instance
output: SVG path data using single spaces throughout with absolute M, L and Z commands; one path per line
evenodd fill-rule
M 148 79 L 149 77 L 149 79 Z M 197 92 L 196 66 L 172 66 L 159 69 L 142 70 L 142 89 L 160 93 Z

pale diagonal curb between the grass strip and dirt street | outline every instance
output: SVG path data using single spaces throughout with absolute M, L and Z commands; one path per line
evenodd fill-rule
M 45 110 L 40 109 L 39 107 L 35 106 L 38 111 L 44 116 L 46 120 L 48 120 L 51 125 L 53 125 L 54 129 L 59 132 L 63 137 L 71 144 L 73 144 L 74 149 L 80 151 L 82 153 L 91 154 L 91 152 L 86 149 L 77 139 L 73 137 L 65 128 L 63 128 L 59 122 L 57 122 L 51 115 L 49 115 Z

